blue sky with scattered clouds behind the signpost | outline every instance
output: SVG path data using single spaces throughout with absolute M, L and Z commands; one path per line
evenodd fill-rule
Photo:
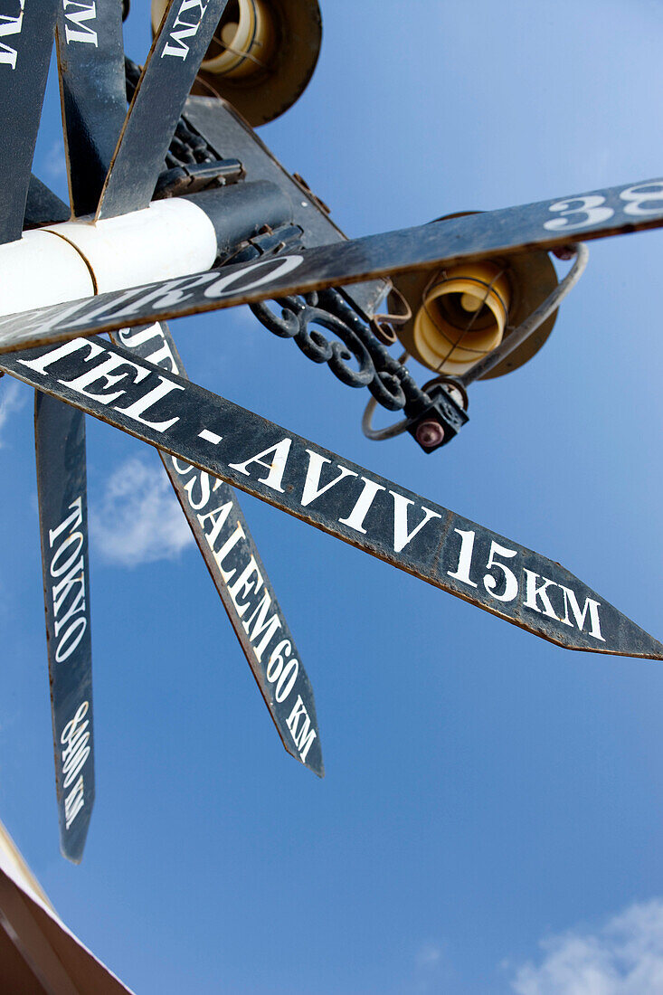
M 348 235 L 661 175 L 654 0 L 323 15 L 309 90 L 261 134 Z M 141 61 L 146 4 L 126 30 Z M 36 172 L 64 194 L 55 88 Z M 430 457 L 365 440 L 365 392 L 244 309 L 172 331 L 192 379 L 558 559 L 661 638 L 662 250 L 593 243 L 544 350 L 476 385 Z M 564 652 L 242 497 L 316 692 L 321 782 L 283 750 L 156 454 L 93 420 L 97 803 L 67 864 L 32 403 L 0 382 L 0 817 L 127 984 L 663 992 L 661 665 Z

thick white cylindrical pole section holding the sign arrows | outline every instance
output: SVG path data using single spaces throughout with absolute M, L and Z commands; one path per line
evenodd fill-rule
M 0 314 L 186 277 L 216 256 L 214 225 L 178 197 L 97 223 L 51 225 L 0 246 Z

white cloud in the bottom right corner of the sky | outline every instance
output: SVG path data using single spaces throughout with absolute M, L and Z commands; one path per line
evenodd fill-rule
M 663 899 L 541 946 L 542 962 L 524 964 L 512 981 L 518 995 L 663 995 Z

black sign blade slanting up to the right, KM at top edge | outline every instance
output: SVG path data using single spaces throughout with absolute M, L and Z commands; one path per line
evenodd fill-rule
M 171 0 L 138 81 L 98 218 L 147 207 L 163 158 L 227 0 Z

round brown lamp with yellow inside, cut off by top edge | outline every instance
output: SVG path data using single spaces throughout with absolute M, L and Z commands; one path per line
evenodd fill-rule
M 152 0 L 152 32 L 167 0 Z M 306 90 L 323 40 L 318 0 L 229 0 L 191 93 L 222 97 L 253 127 Z

